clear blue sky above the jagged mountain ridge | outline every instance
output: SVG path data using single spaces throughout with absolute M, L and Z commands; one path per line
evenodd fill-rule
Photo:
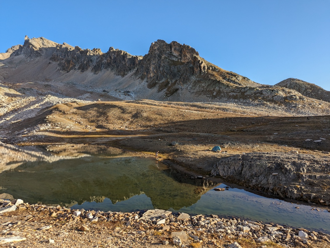
M 330 90 L 329 0 L 1 0 L 0 10 L 0 52 L 25 35 L 133 55 L 162 39 L 258 83 Z

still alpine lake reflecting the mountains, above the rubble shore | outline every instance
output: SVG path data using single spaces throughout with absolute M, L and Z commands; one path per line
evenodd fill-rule
M 8 147 L 7 147 L 8 148 Z M 4 147 L 1 147 L 4 149 Z M 0 193 L 25 202 L 136 211 L 218 214 L 330 233 L 330 213 L 189 176 L 153 159 L 91 145 L 0 149 Z M 1 152 L 2 151 L 2 152 Z M 1 172 L 2 171 L 2 172 Z M 299 209 L 295 208 L 299 206 Z

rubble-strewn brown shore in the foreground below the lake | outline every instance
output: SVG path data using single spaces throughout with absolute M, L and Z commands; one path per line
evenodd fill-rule
M 330 247 L 330 236 L 217 215 L 103 212 L 0 200 L 3 247 Z

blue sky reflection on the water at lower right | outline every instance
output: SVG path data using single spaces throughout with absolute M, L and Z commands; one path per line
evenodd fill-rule
M 225 185 L 221 184 L 218 187 Z M 296 206 L 299 206 L 299 209 L 295 208 Z M 330 213 L 322 209 L 320 212 L 311 209 L 307 205 L 265 198 L 241 189 L 229 189 L 210 190 L 195 204 L 183 207 L 179 212 L 238 216 L 241 219 L 275 222 L 330 233 Z

